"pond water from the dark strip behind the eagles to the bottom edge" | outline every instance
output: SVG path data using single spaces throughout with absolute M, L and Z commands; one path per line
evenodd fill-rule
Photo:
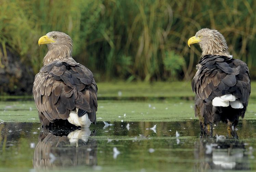
M 193 100 L 102 99 L 89 130 L 42 129 L 34 101 L 21 100 L 0 102 L 0 171 L 256 170 L 255 100 L 238 124 L 239 140 L 218 142 L 200 139 Z M 226 128 L 220 123 L 214 136 L 227 136 Z

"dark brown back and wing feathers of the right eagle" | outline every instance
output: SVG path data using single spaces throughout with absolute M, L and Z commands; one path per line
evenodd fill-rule
M 251 85 L 249 70 L 241 60 L 226 56 L 206 55 L 198 65 L 192 90 L 204 101 L 232 93 L 247 106 Z

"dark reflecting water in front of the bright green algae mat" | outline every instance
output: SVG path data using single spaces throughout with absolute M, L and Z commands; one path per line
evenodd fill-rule
M 109 123 L 98 122 L 89 130 L 1 123 L 0 171 L 256 170 L 255 120 L 239 122 L 239 140 L 218 142 L 200 139 L 197 120 Z M 227 136 L 226 126 L 220 123 L 216 134 Z

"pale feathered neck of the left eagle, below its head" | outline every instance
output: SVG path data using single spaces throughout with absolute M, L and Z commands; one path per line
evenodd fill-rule
M 76 62 L 72 58 L 72 44 L 67 45 L 51 45 L 47 44 L 48 52 L 43 58 L 43 65 L 47 65 L 52 61 Z

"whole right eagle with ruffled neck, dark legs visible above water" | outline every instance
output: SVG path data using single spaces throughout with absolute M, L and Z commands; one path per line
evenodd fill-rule
M 217 30 L 204 28 L 189 38 L 188 45 L 202 49 L 191 86 L 195 92 L 195 116 L 199 117 L 201 136 L 213 135 L 213 124 L 224 122 L 228 133 L 237 137 L 236 126 L 244 118 L 251 93 L 251 79 L 245 62 L 234 59 L 225 37 Z

